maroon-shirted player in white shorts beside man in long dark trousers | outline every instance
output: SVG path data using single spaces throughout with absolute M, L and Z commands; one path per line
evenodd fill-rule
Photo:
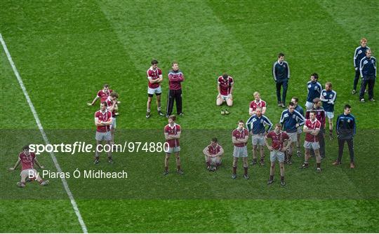
M 152 67 L 150 67 L 147 71 L 147 79 L 149 83 L 147 85 L 147 110 L 146 110 L 146 118 L 150 118 L 150 111 L 152 106 L 152 98 L 154 97 L 154 93 L 157 96 L 157 110 L 159 116 L 164 116 L 164 113 L 161 112 L 161 83 L 163 81 L 162 71 L 158 67 L 158 61 L 152 60 Z

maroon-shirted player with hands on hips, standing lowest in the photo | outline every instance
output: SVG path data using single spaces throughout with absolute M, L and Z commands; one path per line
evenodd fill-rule
M 272 144 L 268 144 L 267 139 L 272 139 Z M 274 172 L 275 172 L 275 161 L 279 161 L 280 166 L 280 185 L 286 186 L 286 182 L 284 181 L 284 152 L 286 152 L 291 146 L 290 137 L 286 132 L 281 131 L 281 125 L 277 123 L 275 125 L 274 131 L 269 132 L 265 137 L 265 144 L 267 148 L 270 150 L 270 179 L 267 181 L 267 184 L 274 183 Z M 284 142 L 287 142 L 287 145 L 284 147 Z

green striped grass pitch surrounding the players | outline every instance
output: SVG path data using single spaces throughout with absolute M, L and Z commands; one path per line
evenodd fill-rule
M 378 146 L 375 143 L 372 146 L 366 140 L 367 136 L 371 139 L 378 136 L 378 123 L 372 121 L 372 117 L 378 115 L 378 104 L 360 104 L 357 95 L 350 95 L 354 76 L 352 53 L 359 39 L 361 36 L 368 38 L 368 46 L 373 49 L 374 56 L 375 48 L 378 48 L 378 26 L 366 24 L 378 22 L 378 16 L 375 17 L 379 15 L 377 2 L 289 1 L 280 7 L 274 1 L 260 3 L 259 6 L 248 1 L 65 1 L 49 4 L 43 1 L 5 1 L 2 5 L 0 32 L 46 130 L 93 130 L 93 112 L 96 109 L 87 108 L 85 103 L 93 99 L 103 83 L 110 83 L 111 88 L 120 93 L 123 102 L 117 128 L 161 130 L 166 124 L 165 118 L 158 118 L 154 111 L 149 120 L 144 117 L 145 71 L 152 58 L 159 60 L 165 75 L 173 60 L 180 62 L 187 78 L 183 83 L 186 115 L 178 119 L 184 130 L 205 129 L 210 133 L 218 129 L 232 130 L 239 118 L 248 117 L 248 102 L 255 90 L 259 90 L 262 99 L 268 102 L 267 116 L 273 122 L 279 121 L 281 109 L 275 106 L 271 77 L 272 62 L 278 52 L 286 53 L 291 67 L 288 99 L 295 95 L 303 104 L 305 83 L 316 71 L 323 85 L 332 81 L 338 92 L 336 113 L 342 111 L 345 103 L 353 107 L 359 128 L 354 142 L 358 167 L 352 171 L 343 165 L 333 170 L 330 163 L 337 153 L 336 143 L 327 142 L 328 158 L 321 177 L 329 186 L 322 181 L 317 182 L 318 177 L 312 172 L 298 172 L 295 165 L 287 167 L 286 192 L 278 184 L 265 190 L 268 167 L 265 170 L 253 168 L 251 173 L 255 178 L 251 181 L 232 181 L 229 179 L 230 153 L 221 170 L 208 175 L 204 171 L 200 151 L 192 153 L 192 149 L 202 149 L 209 137 L 193 142 L 183 139 L 182 158 L 187 172 L 183 178 L 174 174 L 161 178 L 163 156 L 159 154 L 138 160 L 118 156 L 117 164 L 109 169 L 118 171 L 133 163 L 133 167 L 128 168 L 131 177 L 126 182 L 133 186 L 133 183 L 143 181 L 140 185 L 143 190 L 135 190 L 133 195 L 140 193 L 140 198 L 145 199 L 126 200 L 119 196 L 117 200 L 88 200 L 81 186 L 88 186 L 88 194 L 97 192 L 105 195 L 109 188 L 125 192 L 134 188 L 124 186 L 121 181 L 69 180 L 74 196 L 81 198 L 77 202 L 89 231 L 378 232 L 378 186 L 375 186 L 378 181 L 375 175 Z M 5 132 L 35 129 L 34 119 L 4 50 L 1 50 L 0 59 L 1 104 L 4 108 L 0 113 L 1 128 Z M 217 95 L 215 78 L 223 71 L 234 76 L 236 82 L 230 116 L 220 116 L 220 108 L 214 105 Z M 164 94 L 167 89 L 165 81 Z M 378 92 L 375 95 L 378 97 Z M 12 104 L 9 104 L 9 98 Z M 163 103 L 166 107 L 166 95 Z M 153 110 L 154 107 L 155 104 Z M 5 121 L 9 113 L 12 113 L 12 121 Z M 49 135 L 49 131 L 48 137 L 58 140 L 55 135 Z M 156 137 L 163 140 L 162 135 Z M 231 152 L 230 136 L 218 137 L 228 149 L 227 153 Z M 13 143 L 9 139 L 13 139 Z M 64 200 L 65 191 L 58 179 L 53 179 L 51 186 L 46 188 L 28 184 L 25 191 L 20 191 L 14 185 L 19 179 L 18 172 L 5 171 L 13 165 L 22 144 L 30 139 L 41 142 L 38 132 L 29 138 L 1 138 L 0 173 L 4 178 L 1 187 L 6 188 L 2 190 L 1 197 L 13 195 L 15 198 L 1 200 L 1 231 L 81 231 L 69 201 Z M 41 156 L 40 161 L 48 169 L 54 169 L 48 155 Z M 58 161 L 63 170 L 74 170 L 77 165 L 86 168 L 90 156 L 69 158 L 58 155 Z M 347 153 L 344 156 L 346 161 Z M 145 164 L 140 165 L 139 162 Z M 107 170 L 109 167 L 103 163 L 99 168 Z M 214 190 L 207 191 L 215 177 L 220 183 L 224 182 L 224 186 L 211 186 Z M 200 184 L 199 180 L 203 183 Z M 310 193 L 314 197 L 299 194 L 305 188 L 311 189 L 315 181 L 323 189 Z M 151 183 L 154 186 L 150 186 Z M 176 192 L 175 186 L 183 184 L 187 190 Z M 255 191 L 246 185 L 261 189 Z M 147 188 L 159 186 L 167 188 L 166 200 L 149 200 L 149 193 L 157 191 Z M 171 191 L 175 191 L 174 198 L 183 198 L 184 195 L 185 198 L 201 197 L 202 187 L 204 193 L 212 195 L 211 198 L 220 198 L 226 191 L 246 193 L 253 190 L 254 193 L 246 195 L 248 200 L 167 200 L 171 199 Z M 350 200 L 343 199 L 341 194 L 338 194 L 341 199 L 328 197 L 332 189 L 339 187 Z M 191 193 L 185 194 L 188 191 Z M 42 198 L 46 196 L 49 200 L 24 200 L 26 193 Z M 280 193 L 293 193 L 294 199 L 277 198 Z M 263 195 L 267 197 L 252 200 Z M 110 198 L 116 197 L 110 195 Z M 17 224 L 20 215 L 32 216 L 38 207 L 44 207 L 43 216 L 36 221 L 24 220 L 22 226 Z M 57 223 L 56 220 L 62 222 Z

